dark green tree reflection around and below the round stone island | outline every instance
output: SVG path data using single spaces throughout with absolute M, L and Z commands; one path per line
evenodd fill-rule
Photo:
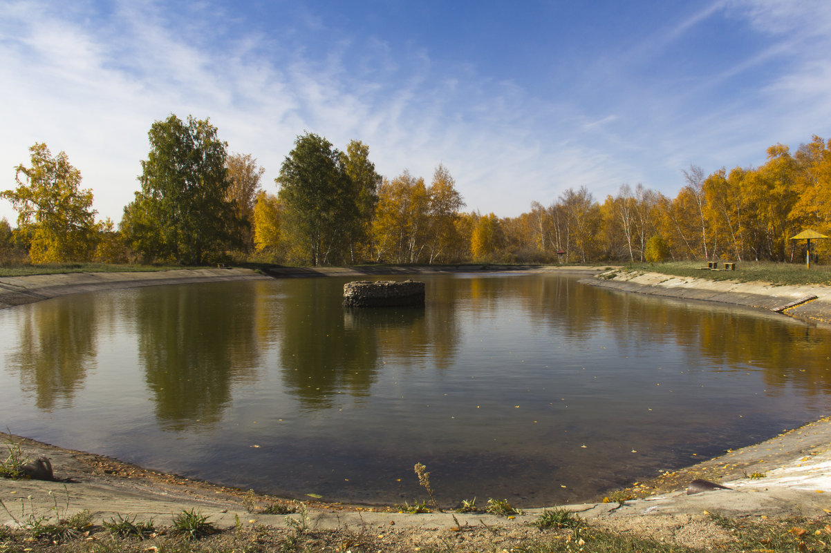
M 353 310 L 341 306 L 338 282 L 298 279 L 285 287 L 290 297 L 283 303 L 283 381 L 304 407 L 330 408 L 342 392 L 369 396 L 384 364 L 411 365 L 429 350 L 440 366 L 455 357 L 459 331 L 452 302 Z

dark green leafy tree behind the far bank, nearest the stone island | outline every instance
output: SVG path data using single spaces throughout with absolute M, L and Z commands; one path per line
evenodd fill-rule
M 322 136 L 298 136 L 275 180 L 281 228 L 295 261 L 317 266 L 346 259 L 361 206 L 341 152 Z

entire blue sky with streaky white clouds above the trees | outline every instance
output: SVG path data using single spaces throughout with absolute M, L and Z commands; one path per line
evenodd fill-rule
M 171 113 L 209 117 L 271 193 L 310 131 L 389 178 L 445 164 L 467 210 L 512 217 L 757 166 L 831 138 L 829 99 L 828 0 L 0 0 L 0 189 L 46 142 L 116 223 Z

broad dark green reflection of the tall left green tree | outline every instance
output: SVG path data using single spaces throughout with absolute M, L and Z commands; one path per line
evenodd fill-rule
M 252 286 L 160 286 L 135 303 L 140 362 L 162 427 L 219 421 L 236 381 L 258 363 Z

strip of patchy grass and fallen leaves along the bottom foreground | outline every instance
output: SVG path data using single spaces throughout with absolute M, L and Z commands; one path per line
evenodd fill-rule
M 561 516 L 564 515 L 564 516 Z M 184 511 L 173 527 L 157 527 L 152 521 L 136 523 L 135 517 L 118 517 L 102 526 L 91 523 L 88 511 L 66 520 L 19 521 L 12 530 L 0 526 L 0 551 L 62 551 L 66 553 L 116 553 L 148 551 L 168 553 L 266 552 L 279 553 L 620 553 L 653 551 L 703 553 L 703 551 L 829 551 L 831 527 L 824 520 L 734 520 L 710 515 L 711 530 L 696 546 L 663 541 L 628 531 L 608 531 L 581 521 L 568 511 L 543 511 L 528 526 L 457 526 L 449 529 L 396 531 L 378 528 L 342 528 L 319 531 L 302 515 L 290 519 L 290 528 L 263 526 L 255 519 L 237 521 L 227 529 L 214 526 L 199 511 Z M 677 540 L 677 538 L 676 538 Z

